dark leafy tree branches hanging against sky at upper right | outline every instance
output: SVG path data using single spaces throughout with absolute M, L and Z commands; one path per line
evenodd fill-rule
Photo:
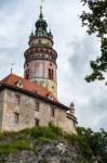
M 96 34 L 101 40 L 101 54 L 90 65 L 92 74 L 85 77 L 86 82 L 102 80 L 107 72 L 107 0 L 81 0 L 89 11 L 80 15 L 82 26 L 86 26 L 89 35 Z M 105 83 L 107 85 L 107 83 Z

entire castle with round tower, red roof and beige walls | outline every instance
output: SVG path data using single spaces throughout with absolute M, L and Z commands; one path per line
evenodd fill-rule
M 24 77 L 10 74 L 0 82 L 0 130 L 18 131 L 50 123 L 76 133 L 75 105 L 57 100 L 57 52 L 40 7 L 36 32 L 25 51 Z

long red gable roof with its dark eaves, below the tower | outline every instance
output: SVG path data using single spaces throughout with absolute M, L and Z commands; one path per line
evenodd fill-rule
M 18 84 L 21 84 L 21 86 Z M 68 106 L 58 102 L 58 100 L 46 88 L 36 84 L 35 82 L 29 82 L 28 79 L 25 79 L 15 74 L 10 74 L 5 78 L 0 80 L 0 88 L 5 88 L 5 87 L 12 88 L 14 90 L 23 91 L 31 96 L 38 96 L 42 100 L 51 104 L 55 104 L 65 111 L 69 110 Z M 48 97 L 50 93 L 53 96 L 52 100 L 49 99 Z M 77 118 L 73 115 L 70 115 L 70 118 L 77 123 Z

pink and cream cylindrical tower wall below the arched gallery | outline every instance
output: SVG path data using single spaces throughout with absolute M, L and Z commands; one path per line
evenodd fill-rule
M 53 70 L 53 79 L 49 78 L 49 68 Z M 57 97 L 56 68 L 56 64 L 53 62 L 35 60 L 29 61 L 29 63 L 25 65 L 25 74 L 26 71 L 29 70 L 29 80 L 36 82 L 39 85 L 48 88 L 48 90 L 50 90 L 54 97 Z

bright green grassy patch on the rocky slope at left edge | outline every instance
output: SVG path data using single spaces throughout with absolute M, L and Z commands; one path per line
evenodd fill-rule
M 15 153 L 17 150 L 29 150 L 30 143 L 27 140 L 16 140 L 15 142 L 0 145 L 0 154 Z

